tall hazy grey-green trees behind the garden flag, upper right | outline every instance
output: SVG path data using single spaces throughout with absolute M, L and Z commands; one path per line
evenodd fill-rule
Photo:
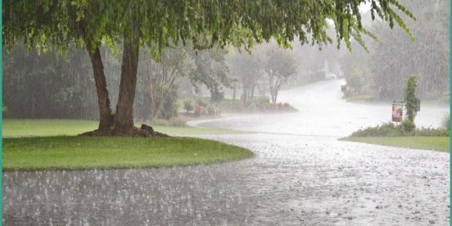
M 449 92 L 450 1 L 400 2 L 418 18 L 416 22 L 407 22 L 416 40 L 412 42 L 404 36 L 402 29 L 388 29 L 382 21 L 374 23 L 370 30 L 379 42 L 372 42 L 368 53 L 354 48 L 353 53 L 344 55 L 342 68 L 346 79 L 357 68 L 363 72 L 365 86 L 369 87 L 364 89 L 366 93 L 378 92 L 381 99 L 393 100 L 403 97 L 404 78 L 416 74 L 418 95 L 438 99 Z M 366 16 L 363 15 L 363 21 Z

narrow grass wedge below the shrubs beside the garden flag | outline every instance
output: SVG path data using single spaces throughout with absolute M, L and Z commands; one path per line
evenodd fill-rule
M 449 152 L 449 137 L 345 137 L 341 141 Z

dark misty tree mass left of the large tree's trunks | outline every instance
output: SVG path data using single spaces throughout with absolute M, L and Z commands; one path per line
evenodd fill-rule
M 98 119 L 91 64 L 86 52 L 70 47 L 63 59 L 56 51 L 38 57 L 23 46 L 3 53 L 5 117 Z

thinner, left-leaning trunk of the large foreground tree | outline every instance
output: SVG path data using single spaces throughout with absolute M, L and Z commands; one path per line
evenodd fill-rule
M 107 131 L 111 128 L 113 116 L 111 115 L 110 99 L 108 98 L 108 90 L 106 88 L 106 80 L 103 73 L 100 49 L 97 47 L 94 51 L 91 51 L 91 47 L 89 45 L 87 45 L 86 48 L 88 50 L 89 58 L 91 59 L 92 70 L 94 72 L 94 81 L 96 83 L 100 115 L 99 130 Z

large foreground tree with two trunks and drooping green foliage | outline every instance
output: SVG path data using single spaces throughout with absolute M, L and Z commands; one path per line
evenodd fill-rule
M 95 78 L 100 124 L 97 134 L 132 134 L 133 103 L 140 47 L 158 57 L 169 43 L 192 41 L 195 49 L 233 45 L 250 49 L 271 39 L 283 46 L 297 37 L 301 44 L 326 44 L 328 21 L 334 22 L 337 45 L 352 37 L 362 43 L 359 7 L 371 5 L 390 27 L 396 22 L 408 29 L 396 12 L 414 18 L 397 0 L 5 0 L 3 44 L 11 49 L 23 40 L 30 50 L 67 50 L 70 43 L 86 48 Z M 328 20 L 329 19 L 329 20 Z M 207 43 L 207 44 L 205 44 Z M 116 112 L 112 115 L 99 47 L 121 46 L 121 83 Z

